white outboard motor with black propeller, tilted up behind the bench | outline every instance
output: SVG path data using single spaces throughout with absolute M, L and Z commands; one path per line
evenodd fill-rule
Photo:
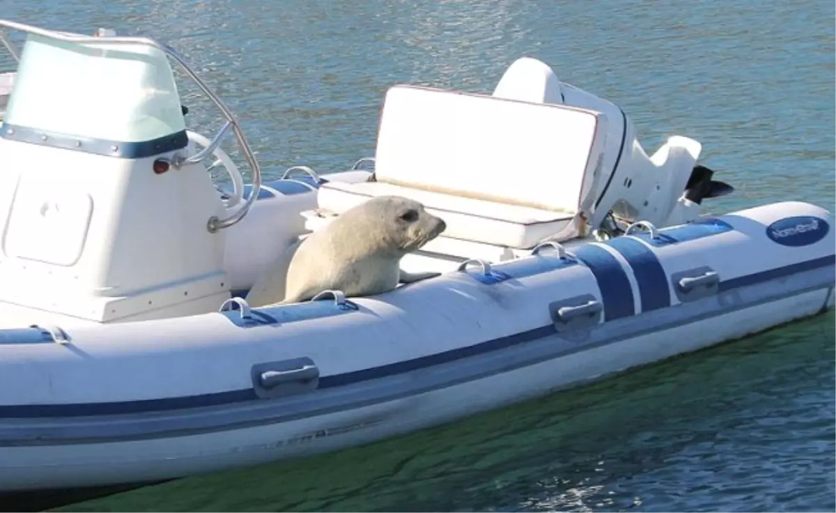
M 593 229 L 601 227 L 610 213 L 627 223 L 640 220 L 657 226 L 686 223 L 699 215 L 702 198 L 731 192 L 726 184 L 711 182 L 710 174 L 706 178 L 706 172 L 702 171 L 710 172 L 706 167 L 696 171 L 696 159 L 702 149 L 700 142 L 686 136 L 671 136 L 648 156 L 624 110 L 561 82 L 548 64 L 538 59 L 517 59 L 502 76 L 493 95 L 577 106 L 597 110 L 607 117 L 604 159 L 599 167 L 601 176 L 594 181 L 596 199 L 587 212 Z M 686 194 L 686 189 L 691 192 Z

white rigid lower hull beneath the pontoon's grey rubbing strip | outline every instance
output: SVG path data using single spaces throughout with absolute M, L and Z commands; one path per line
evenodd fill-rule
M 678 329 L 314 418 L 170 439 L 3 448 L 0 482 L 4 490 L 28 490 L 167 480 L 369 444 L 733 340 L 775 321 L 814 315 L 827 295 L 825 287 Z M 741 316 L 748 322 L 741 323 Z

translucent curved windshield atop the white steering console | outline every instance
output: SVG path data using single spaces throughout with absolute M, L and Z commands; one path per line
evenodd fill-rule
M 166 55 L 141 44 L 30 34 L 3 120 L 68 136 L 140 142 L 185 130 Z

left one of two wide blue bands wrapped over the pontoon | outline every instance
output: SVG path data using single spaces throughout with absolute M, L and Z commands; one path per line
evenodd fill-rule
M 634 315 L 633 287 L 619 261 L 594 244 L 584 244 L 574 254 L 589 267 L 598 282 L 604 301 L 604 321 Z

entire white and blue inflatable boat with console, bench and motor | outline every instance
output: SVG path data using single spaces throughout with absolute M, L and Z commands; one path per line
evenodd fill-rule
M 0 28 L 28 34 L 0 126 L 0 490 L 367 444 L 833 304 L 828 211 L 701 215 L 732 187 L 699 142 L 648 156 L 623 110 L 537 59 L 491 94 L 393 85 L 373 158 L 262 183 L 166 44 Z M 212 139 L 186 128 L 171 62 L 224 116 Z M 250 183 L 219 146 L 230 130 Z M 439 276 L 247 305 L 289 244 L 381 194 L 446 221 L 403 261 Z

